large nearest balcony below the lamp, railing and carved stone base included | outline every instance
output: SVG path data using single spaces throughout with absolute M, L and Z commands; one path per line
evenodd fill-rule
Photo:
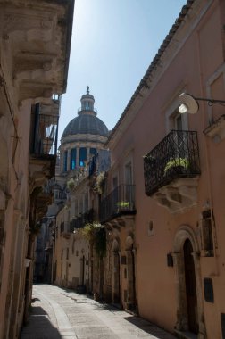
M 144 158 L 146 195 L 171 212 L 196 205 L 200 175 L 195 131 L 172 130 Z

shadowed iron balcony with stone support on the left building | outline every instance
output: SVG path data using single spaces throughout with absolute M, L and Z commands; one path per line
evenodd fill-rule
M 54 177 L 60 99 L 32 107 L 29 170 L 33 186 L 43 186 Z

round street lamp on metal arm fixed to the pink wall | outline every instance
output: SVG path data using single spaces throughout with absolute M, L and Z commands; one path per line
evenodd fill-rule
M 206 101 L 208 105 L 212 105 L 212 103 L 219 103 L 222 106 L 225 106 L 225 100 L 214 100 L 214 99 L 207 99 L 207 98 L 196 98 L 193 95 L 190 95 L 188 93 L 181 93 L 179 95 L 179 112 L 181 114 L 183 113 L 190 113 L 190 114 L 196 114 L 196 112 L 199 109 L 198 101 Z

